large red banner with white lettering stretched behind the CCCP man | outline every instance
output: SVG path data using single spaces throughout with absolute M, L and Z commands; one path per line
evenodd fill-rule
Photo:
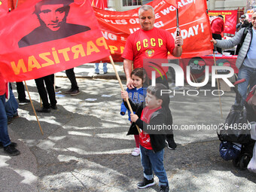
M 171 4 L 170 4 L 171 3 Z M 176 30 L 176 0 L 155 0 L 148 3 L 154 8 L 155 27 L 166 29 L 175 37 Z M 126 38 L 140 29 L 139 8 L 130 11 L 105 11 L 94 8 L 99 26 L 102 29 L 111 55 L 115 61 L 123 61 L 121 54 Z M 178 20 L 181 35 L 184 38 L 182 58 L 203 56 L 212 53 L 211 27 L 206 13 L 205 0 L 178 1 Z M 107 58 L 106 58 L 107 60 Z

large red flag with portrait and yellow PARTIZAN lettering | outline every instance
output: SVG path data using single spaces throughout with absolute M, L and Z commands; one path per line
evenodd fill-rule
M 109 56 L 89 1 L 30 0 L 1 19 L 0 71 L 8 81 L 41 78 Z

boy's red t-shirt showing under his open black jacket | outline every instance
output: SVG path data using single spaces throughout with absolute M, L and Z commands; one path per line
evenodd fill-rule
M 162 108 L 162 107 L 160 106 L 159 108 L 153 108 L 153 109 L 150 109 L 148 107 L 143 108 L 141 120 L 143 120 L 145 123 L 149 124 L 151 115 L 154 113 L 154 111 L 157 111 L 160 108 Z M 143 148 L 153 150 L 153 148 L 151 146 L 151 138 L 148 135 L 148 133 L 145 133 L 143 130 L 141 133 L 139 133 L 139 144 L 142 145 Z

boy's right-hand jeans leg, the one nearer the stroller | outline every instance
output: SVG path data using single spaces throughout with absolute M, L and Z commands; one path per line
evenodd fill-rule
M 169 187 L 166 170 L 163 167 L 163 154 L 164 150 L 154 153 L 154 151 L 148 151 L 148 157 L 150 159 L 154 173 L 159 178 L 159 186 Z

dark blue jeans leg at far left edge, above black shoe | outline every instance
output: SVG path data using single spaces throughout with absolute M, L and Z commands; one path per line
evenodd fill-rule
M 6 147 L 11 144 L 8 134 L 7 115 L 5 112 L 5 95 L 0 96 L 0 142 Z

